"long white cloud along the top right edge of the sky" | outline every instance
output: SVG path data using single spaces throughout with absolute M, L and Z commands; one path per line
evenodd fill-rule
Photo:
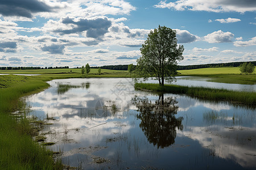
M 178 11 L 210 11 L 210 12 L 246 12 L 256 11 L 254 0 L 179 0 L 175 2 L 160 1 L 156 8 L 172 8 Z

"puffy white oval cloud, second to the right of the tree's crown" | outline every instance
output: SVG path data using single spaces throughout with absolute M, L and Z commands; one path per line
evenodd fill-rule
M 233 37 L 233 33 L 219 30 L 204 36 L 204 40 L 209 43 L 232 42 Z

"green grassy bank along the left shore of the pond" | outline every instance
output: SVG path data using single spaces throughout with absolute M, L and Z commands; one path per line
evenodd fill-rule
M 26 117 L 16 120 L 10 113 L 22 109 L 24 95 L 47 88 L 47 79 L 27 76 L 0 76 L 0 167 L 1 169 L 61 169 L 53 153 L 32 141 L 36 127 Z

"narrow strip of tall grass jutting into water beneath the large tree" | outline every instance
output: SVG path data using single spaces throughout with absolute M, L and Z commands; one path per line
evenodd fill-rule
M 189 96 L 199 97 L 207 100 L 225 100 L 233 103 L 246 104 L 256 106 L 255 92 L 229 91 L 224 89 L 204 88 L 204 87 L 187 87 L 177 85 L 159 86 L 159 84 L 135 83 L 135 88 L 160 91 L 172 94 L 185 94 Z

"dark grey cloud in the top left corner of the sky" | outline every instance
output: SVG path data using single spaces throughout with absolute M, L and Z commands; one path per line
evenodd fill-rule
M 50 12 L 52 7 L 38 0 L 1 0 L 0 14 L 3 16 L 23 16 L 32 18 L 36 12 Z

